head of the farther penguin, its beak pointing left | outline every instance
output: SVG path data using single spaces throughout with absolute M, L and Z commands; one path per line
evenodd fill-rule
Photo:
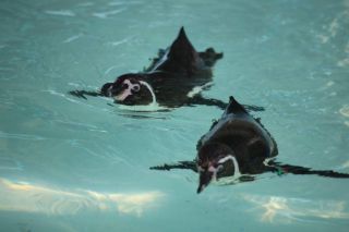
M 122 105 L 149 105 L 154 101 L 155 95 L 152 86 L 142 77 L 139 74 L 124 74 L 116 82 L 105 84 L 100 93 Z

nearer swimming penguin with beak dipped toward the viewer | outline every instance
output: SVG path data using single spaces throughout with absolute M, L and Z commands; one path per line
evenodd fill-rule
M 213 123 L 196 146 L 194 161 L 152 167 L 155 170 L 190 169 L 198 173 L 197 193 L 212 181 L 232 176 L 239 182 L 253 181 L 256 174 L 317 174 L 328 178 L 349 178 L 347 173 L 281 164 L 273 158 L 278 155 L 275 139 L 258 119 L 248 113 L 233 97 L 222 117 Z

